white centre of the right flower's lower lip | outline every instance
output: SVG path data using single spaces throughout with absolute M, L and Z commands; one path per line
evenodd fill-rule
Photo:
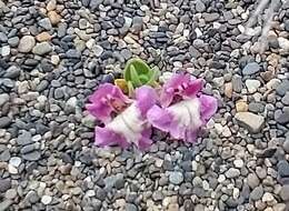
M 200 101 L 197 98 L 178 102 L 169 107 L 168 110 L 182 127 L 195 130 L 202 123 L 200 118 Z

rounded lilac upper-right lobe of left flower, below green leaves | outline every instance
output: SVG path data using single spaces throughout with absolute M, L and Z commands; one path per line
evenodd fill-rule
M 148 86 L 142 86 L 136 90 L 137 107 L 141 115 L 144 117 L 147 111 L 157 102 L 157 93 L 155 89 Z

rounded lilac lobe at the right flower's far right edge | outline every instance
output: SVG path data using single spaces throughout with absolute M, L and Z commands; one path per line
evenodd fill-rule
M 208 121 L 218 110 L 218 101 L 216 98 L 201 94 L 200 96 L 201 102 L 201 118 L 203 121 Z

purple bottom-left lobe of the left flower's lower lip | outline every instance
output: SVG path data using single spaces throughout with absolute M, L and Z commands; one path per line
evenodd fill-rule
M 114 145 L 118 144 L 122 148 L 128 148 L 129 143 L 126 139 L 108 128 L 96 127 L 94 143 L 99 147 Z

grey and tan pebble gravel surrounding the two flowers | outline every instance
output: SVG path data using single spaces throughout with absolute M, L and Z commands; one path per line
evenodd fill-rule
M 0 0 L 0 210 L 289 210 L 289 1 L 259 53 L 253 0 Z M 93 147 L 83 110 L 138 56 L 206 79 L 196 145 Z

